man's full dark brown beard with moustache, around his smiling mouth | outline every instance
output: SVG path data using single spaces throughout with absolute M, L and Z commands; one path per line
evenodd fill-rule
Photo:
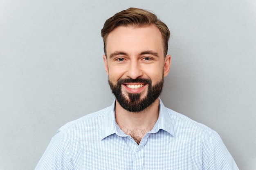
M 108 80 L 112 93 L 115 95 L 117 101 L 127 111 L 140 112 L 148 108 L 155 100 L 160 96 L 163 86 L 164 78 L 160 80 L 156 85 L 152 86 L 152 81 L 146 78 L 127 78 L 119 79 L 117 84 L 114 85 Z M 140 99 L 141 94 L 128 93 L 129 99 L 127 100 L 124 94 L 121 92 L 121 86 L 125 83 L 146 83 L 148 85 L 148 92 L 146 96 Z

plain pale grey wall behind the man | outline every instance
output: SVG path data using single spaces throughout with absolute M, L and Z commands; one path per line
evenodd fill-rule
M 255 0 L 0 0 L 0 170 L 34 169 L 59 127 L 113 102 L 100 31 L 128 7 L 171 30 L 164 104 L 256 169 Z

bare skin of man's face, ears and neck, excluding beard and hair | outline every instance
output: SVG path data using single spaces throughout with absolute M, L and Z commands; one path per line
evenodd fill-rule
M 115 28 L 106 39 L 107 56 L 103 55 L 109 80 L 116 84 L 119 78 L 150 78 L 152 85 L 155 85 L 163 76 L 168 75 L 171 65 L 171 56 L 167 55 L 164 58 L 162 41 L 161 32 L 155 25 Z M 138 89 L 128 88 L 126 84 L 122 84 L 121 91 L 128 100 L 128 93 L 140 93 L 141 98 L 146 96 L 147 84 Z M 158 114 L 159 98 L 146 110 L 137 113 L 126 111 L 116 101 L 116 122 L 137 143 L 153 128 Z

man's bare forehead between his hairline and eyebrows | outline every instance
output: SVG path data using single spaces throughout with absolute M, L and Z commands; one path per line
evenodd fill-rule
M 162 34 L 155 25 L 135 27 L 119 26 L 106 39 L 107 55 L 114 51 L 141 52 L 153 50 L 163 55 Z

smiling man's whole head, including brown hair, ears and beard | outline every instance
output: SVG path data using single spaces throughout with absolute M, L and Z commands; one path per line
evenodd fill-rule
M 130 8 L 110 17 L 101 35 L 105 70 L 117 102 L 127 111 L 145 110 L 159 97 L 169 72 L 167 26 L 148 11 Z

